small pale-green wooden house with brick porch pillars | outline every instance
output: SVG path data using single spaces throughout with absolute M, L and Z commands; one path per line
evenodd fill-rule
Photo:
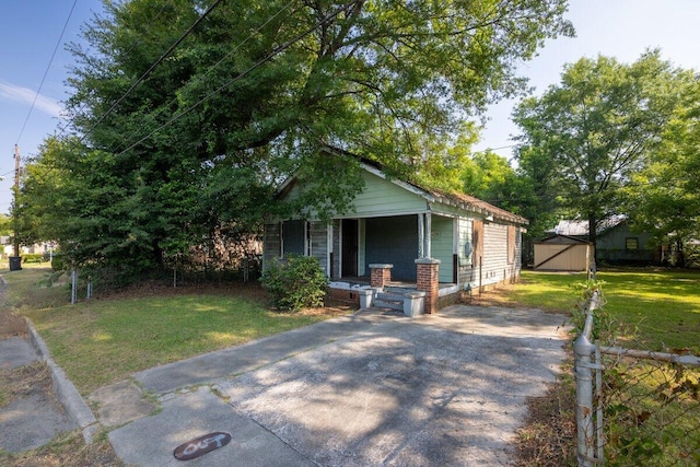
M 329 222 L 268 220 L 264 268 L 288 254 L 314 256 L 332 296 L 362 306 L 404 302 L 405 312 L 417 313 L 436 312 L 464 290 L 518 279 L 527 220 L 467 195 L 392 179 L 369 161 L 360 166 L 364 188 L 348 212 Z M 278 196 L 300 188 L 292 177 Z

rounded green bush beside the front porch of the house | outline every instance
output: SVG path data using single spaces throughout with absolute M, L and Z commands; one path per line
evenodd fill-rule
M 290 255 L 270 264 L 260 277 L 272 304 L 282 310 L 323 306 L 328 279 L 312 256 Z

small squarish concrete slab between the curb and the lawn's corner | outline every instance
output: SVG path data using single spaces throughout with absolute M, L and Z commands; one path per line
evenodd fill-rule
M 96 417 L 105 428 L 118 427 L 156 409 L 155 404 L 143 398 L 141 388 L 130 381 L 122 381 L 88 396 L 88 401 L 96 406 Z

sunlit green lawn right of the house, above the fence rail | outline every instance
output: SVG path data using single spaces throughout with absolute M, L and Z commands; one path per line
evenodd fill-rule
M 605 311 L 628 329 L 628 339 L 649 350 L 700 353 L 700 271 L 609 269 L 597 279 L 605 282 Z M 574 284 L 585 280 L 585 273 L 525 270 L 505 295 L 511 303 L 569 312 L 576 303 Z

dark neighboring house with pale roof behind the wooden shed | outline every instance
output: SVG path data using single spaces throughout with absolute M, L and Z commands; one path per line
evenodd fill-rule
M 588 221 L 560 221 L 548 233 L 549 237 L 538 244 L 551 245 L 557 242 L 556 238 L 562 237 L 587 242 Z M 652 245 L 651 234 L 632 232 L 626 215 L 611 215 L 602 220 L 597 226 L 595 258 L 598 262 L 651 265 L 660 262 L 661 250 Z M 535 262 L 537 268 L 537 261 Z

